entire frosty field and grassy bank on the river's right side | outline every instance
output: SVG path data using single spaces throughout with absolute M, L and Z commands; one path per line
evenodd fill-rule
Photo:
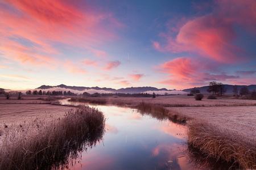
M 196 101 L 189 96 L 175 97 L 86 97 L 71 101 L 121 105 L 179 122 L 189 120 L 189 145 L 210 158 L 237 163 L 241 168 L 256 167 L 256 101 L 231 97 Z

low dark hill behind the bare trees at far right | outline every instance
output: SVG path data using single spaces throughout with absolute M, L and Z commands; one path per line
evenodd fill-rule
M 234 85 L 224 84 L 224 87 L 226 88 L 226 94 L 233 94 Z M 240 91 L 242 87 L 247 87 L 249 91 L 254 91 L 254 90 L 256 91 L 256 85 L 249 85 L 249 86 L 237 85 L 238 91 Z M 207 91 L 209 86 L 196 87 L 196 88 L 199 89 L 202 94 L 209 94 L 209 92 Z M 184 89 L 183 91 L 190 92 L 192 89 L 193 88 L 187 88 L 187 89 Z

